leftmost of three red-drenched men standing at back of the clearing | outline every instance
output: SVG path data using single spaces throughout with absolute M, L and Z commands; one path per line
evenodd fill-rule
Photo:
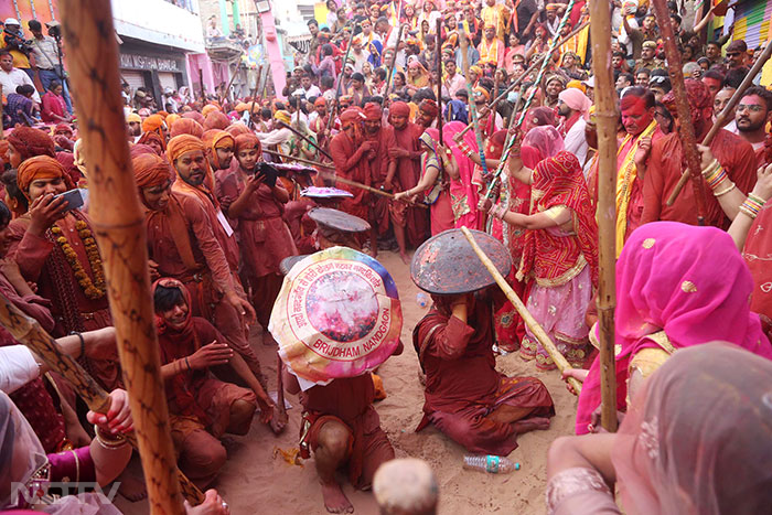
M 343 179 L 371 185 L 373 174 L 369 161 L 376 144 L 364 140 L 365 116 L 362 109 L 352 107 L 341 114 L 341 132 L 330 141 L 330 154 L 335 164 L 335 174 Z M 337 183 L 337 187 L 351 192 L 354 197 L 341 202 L 341 211 L 360 218 L 369 218 L 369 193 L 349 184 Z M 377 242 L 371 236 L 371 253 L 377 250 Z

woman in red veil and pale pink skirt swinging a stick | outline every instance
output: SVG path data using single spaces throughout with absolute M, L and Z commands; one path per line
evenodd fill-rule
M 519 152 L 515 152 L 518 154 Z M 585 314 L 598 283 L 598 225 L 585 176 L 577 158 L 566 151 L 526 169 L 519 155 L 510 161 L 510 173 L 532 186 L 530 214 L 494 205 L 490 213 L 507 224 L 528 229 L 517 279 L 534 278 L 528 311 L 573 366 L 588 357 Z M 536 358 L 539 369 L 555 363 L 527 331 L 521 357 Z

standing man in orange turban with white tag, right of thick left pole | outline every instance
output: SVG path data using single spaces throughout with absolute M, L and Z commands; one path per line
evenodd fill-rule
M 235 233 L 225 218 L 219 207 L 219 202 L 215 196 L 214 174 L 206 161 L 205 150 L 204 142 L 190 135 L 172 138 L 167 150 L 171 169 L 176 174 L 176 181 L 174 181 L 172 190 L 174 193 L 189 195 L 197 200 L 206 215 L 207 225 L 215 237 L 217 247 L 225 258 L 225 265 L 230 276 L 228 282 L 233 288 L 234 294 L 221 297 L 217 293 L 222 293 L 223 290 L 216 291 L 218 290 L 217 288 L 213 289 L 207 292 L 212 301 L 202 307 L 202 310 L 197 313 L 212 321 L 217 330 L 225 335 L 234 350 L 242 354 L 255 375 L 262 379 L 260 363 L 247 341 L 247 320 L 255 318 L 255 310 L 246 301 L 244 288 L 238 279 L 238 244 L 236 243 Z M 167 257 L 160 255 L 159 259 L 167 259 Z M 159 266 L 161 266 L 160 262 Z

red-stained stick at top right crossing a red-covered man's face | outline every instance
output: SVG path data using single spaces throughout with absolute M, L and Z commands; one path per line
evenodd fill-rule
M 686 165 L 695 189 L 695 202 L 697 204 L 697 223 L 705 225 L 705 183 L 703 181 L 701 159 L 697 151 L 695 128 L 691 125 L 691 109 L 686 97 L 686 85 L 684 84 L 684 71 L 680 62 L 680 52 L 673 33 L 669 13 L 665 0 L 652 0 L 654 15 L 662 31 L 665 55 L 667 56 L 667 69 L 671 75 L 671 86 L 675 97 L 676 109 L 678 111 L 678 126 L 682 147 L 686 157 Z M 594 58 L 592 60 L 594 62 Z

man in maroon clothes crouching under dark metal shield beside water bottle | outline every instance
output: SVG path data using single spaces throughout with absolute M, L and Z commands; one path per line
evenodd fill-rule
M 553 399 L 535 377 L 495 368 L 491 307 L 475 296 L 432 296 L 435 305 L 412 331 L 426 373 L 423 419 L 470 452 L 507 455 L 518 433 L 547 429 Z

